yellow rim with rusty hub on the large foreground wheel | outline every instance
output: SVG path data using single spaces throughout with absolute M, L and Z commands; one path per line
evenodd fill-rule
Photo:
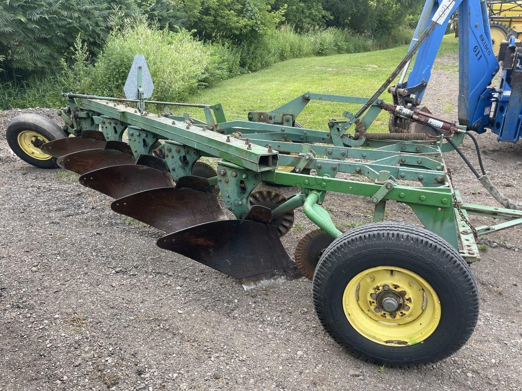
M 441 320 L 441 304 L 431 285 L 395 266 L 373 267 L 353 277 L 342 304 L 355 331 L 386 346 L 418 344 Z

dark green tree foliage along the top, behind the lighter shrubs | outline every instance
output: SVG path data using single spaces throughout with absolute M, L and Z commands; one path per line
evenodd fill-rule
M 262 47 L 276 28 L 336 27 L 389 36 L 419 13 L 422 0 L 3 0 L 0 74 L 6 80 L 42 75 L 65 59 L 79 38 L 98 55 L 111 31 L 147 20 L 158 30 L 187 30 L 203 41 Z M 411 18 L 410 18 L 411 19 Z M 411 20 L 410 20 L 411 21 Z M 224 47 L 223 46 L 223 47 Z M 245 49 L 246 46 L 246 49 Z M 249 48 L 250 47 L 250 48 Z M 246 54 L 245 54 L 246 55 Z

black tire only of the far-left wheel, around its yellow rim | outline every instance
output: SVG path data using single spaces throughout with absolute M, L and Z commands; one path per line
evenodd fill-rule
M 7 125 L 7 143 L 11 150 L 13 150 L 21 160 L 38 168 L 56 168 L 56 158 L 53 157 L 49 160 L 38 160 L 20 148 L 20 145 L 18 144 L 18 135 L 26 130 L 37 132 L 49 141 L 67 137 L 67 133 L 50 119 L 36 114 L 17 115 L 15 118 L 11 119 L 9 125 Z

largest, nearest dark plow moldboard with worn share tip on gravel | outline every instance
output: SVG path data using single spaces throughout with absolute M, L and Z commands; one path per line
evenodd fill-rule
M 215 221 L 174 232 L 156 244 L 240 279 L 245 289 L 301 277 L 270 224 Z

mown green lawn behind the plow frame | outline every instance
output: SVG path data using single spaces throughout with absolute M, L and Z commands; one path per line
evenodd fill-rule
M 439 55 L 456 51 L 457 39 L 444 38 Z M 270 111 L 304 92 L 371 96 L 406 54 L 407 46 L 360 54 L 338 54 L 287 60 L 253 74 L 219 82 L 196 95 L 192 103 L 222 103 L 227 119 L 246 119 L 248 111 Z M 389 94 L 383 94 L 389 100 Z M 307 128 L 327 130 L 328 120 L 342 117 L 345 104 L 311 102 L 299 117 Z M 191 113 L 195 114 L 196 112 Z M 387 130 L 388 115 L 381 114 L 374 131 Z

